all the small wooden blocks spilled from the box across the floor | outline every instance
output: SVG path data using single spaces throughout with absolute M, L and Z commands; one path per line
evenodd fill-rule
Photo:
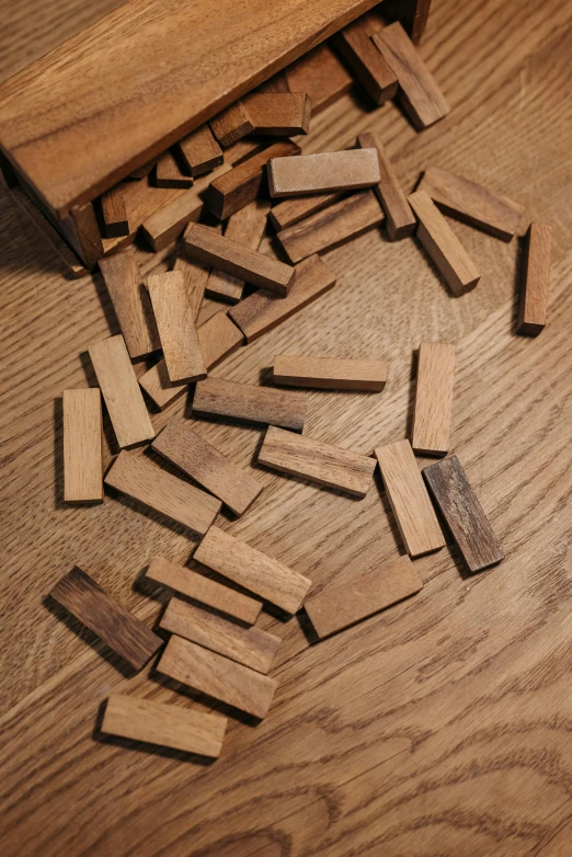
M 417 128 L 445 116 L 445 100 L 400 24 L 371 33 L 367 22 L 366 16 L 346 27 L 336 45 L 369 95 L 376 103 L 398 95 Z M 334 75 L 330 48 L 319 50 L 319 81 L 325 77 L 336 92 L 343 90 L 347 72 L 335 59 L 334 68 L 342 70 Z M 208 376 L 224 357 L 332 288 L 335 276 L 320 253 L 368 229 L 385 226 L 393 241 L 415 233 L 458 296 L 473 288 L 480 274 L 443 213 L 503 240 L 511 240 L 522 225 L 520 206 L 436 167 L 425 170 L 417 190 L 405 195 L 374 133 L 359 135 L 357 148 L 309 156 L 290 140 L 265 148 L 245 142 L 242 138 L 251 133 L 281 137 L 308 132 L 312 96 L 296 91 L 298 81 L 296 67 L 282 72 L 153 165 L 158 186 L 186 190 L 168 206 L 168 215 L 161 209 L 142 229 L 156 250 L 184 229 L 182 252 L 171 271 L 149 275 L 146 288 L 130 248 L 100 262 L 122 334 L 89 347 L 100 387 L 64 392 L 65 500 L 101 501 L 103 483 L 136 499 L 197 534 L 196 563 L 233 586 L 163 558 L 151 559 L 147 578 L 176 594 L 159 622 L 170 637 L 156 669 L 259 719 L 276 690 L 268 672 L 281 643 L 255 627 L 263 603 L 284 617 L 304 606 L 317 638 L 323 639 L 416 594 L 422 581 L 412 560 L 445 546 L 437 512 L 470 572 L 504 556 L 461 464 L 447 456 L 453 345 L 421 343 L 411 438 L 378 447 L 371 456 L 304 434 L 304 390 L 379 393 L 387 364 L 377 355 L 278 354 L 274 386 Z M 327 101 L 323 96 L 320 104 Z M 233 160 L 222 162 L 222 148 L 233 152 Z M 112 240 L 130 233 L 122 194 L 119 185 L 101 201 Z M 204 204 L 215 221 L 196 222 Z M 260 251 L 267 221 L 288 262 Z M 545 225 L 530 227 L 525 267 L 518 328 L 536 334 L 547 311 L 550 230 Z M 255 290 L 243 297 L 245 285 Z M 205 294 L 234 306 L 197 328 Z M 133 361 L 159 350 L 162 357 L 137 378 Z M 171 421 L 155 436 L 144 391 L 163 409 L 191 384 L 196 385 L 194 415 L 267 426 L 258 458 L 264 467 L 364 498 L 379 465 L 407 553 L 359 574 L 350 589 L 327 586 L 312 595 L 307 576 L 216 526 L 222 505 L 243 515 L 262 485 L 255 471 L 238 467 L 184 419 Z M 104 478 L 101 395 L 122 449 Z M 127 450 L 148 443 L 193 484 Z M 439 460 L 421 472 L 415 454 Z M 135 671 L 164 643 L 78 568 L 50 594 Z M 102 730 L 218 756 L 226 722 L 219 713 L 113 694 Z

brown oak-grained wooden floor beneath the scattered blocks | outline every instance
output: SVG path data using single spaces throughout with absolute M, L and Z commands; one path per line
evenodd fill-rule
M 113 3 L 88 5 L 2 0 L 1 73 Z M 103 740 L 98 711 L 112 689 L 197 702 L 159 675 L 124 677 L 43 598 L 77 562 L 151 624 L 160 604 L 134 583 L 153 555 L 185 562 L 194 545 L 130 501 L 62 504 L 59 397 L 93 381 L 85 347 L 117 323 L 100 279 L 65 279 L 2 190 L 3 855 L 572 853 L 572 4 L 434 0 L 422 53 L 453 105 L 445 122 L 416 134 L 396 106 L 367 112 L 347 96 L 319 117 L 308 150 L 376 128 L 408 187 L 435 163 L 552 224 L 546 331 L 513 333 L 517 241 L 454 224 L 482 271 L 455 299 L 414 241 L 371 232 L 327 256 L 333 292 L 215 374 L 264 380 L 285 351 L 387 358 L 380 395 L 311 393 L 308 434 L 367 453 L 405 436 L 420 341 L 455 343 L 454 449 L 505 562 L 466 578 L 454 549 L 415 560 L 419 596 L 318 644 L 297 618 L 264 616 L 284 637 L 275 704 L 259 725 L 232 720 L 213 765 Z M 262 435 L 199 430 L 242 465 Z M 403 551 L 378 483 L 357 501 L 258 478 L 252 510 L 222 526 L 316 591 Z

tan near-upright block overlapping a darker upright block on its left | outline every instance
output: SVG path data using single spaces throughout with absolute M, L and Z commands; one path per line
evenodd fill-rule
M 147 277 L 155 318 L 171 381 L 198 381 L 206 378 L 205 362 L 198 344 L 194 307 L 185 278 L 180 271 L 165 271 Z

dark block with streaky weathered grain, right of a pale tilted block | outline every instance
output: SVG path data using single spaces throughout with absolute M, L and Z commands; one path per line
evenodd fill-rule
M 504 559 L 504 552 L 456 455 L 423 468 L 423 476 L 471 572 Z

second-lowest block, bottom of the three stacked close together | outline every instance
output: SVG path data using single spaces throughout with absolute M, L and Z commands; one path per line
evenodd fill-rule
M 268 713 L 278 686 L 274 678 L 182 637 L 171 637 L 157 669 L 175 682 L 260 719 Z

